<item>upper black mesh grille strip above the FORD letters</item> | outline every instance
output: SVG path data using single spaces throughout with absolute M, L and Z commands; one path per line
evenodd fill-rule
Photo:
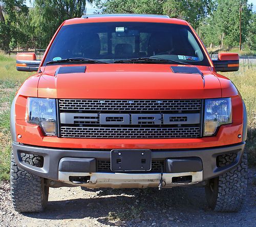
M 60 110 L 179 111 L 200 110 L 201 99 L 189 100 L 96 100 L 60 99 Z

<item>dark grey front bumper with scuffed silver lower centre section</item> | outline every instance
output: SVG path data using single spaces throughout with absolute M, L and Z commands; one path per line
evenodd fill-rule
M 70 157 L 79 160 L 92 160 L 92 159 L 105 159 L 110 160 L 111 151 L 110 150 L 74 150 L 74 149 L 53 149 L 47 147 L 36 147 L 23 145 L 19 143 L 12 144 L 13 154 L 15 162 L 17 165 L 28 172 L 35 175 L 51 179 L 59 180 L 69 184 L 70 176 L 87 176 L 89 177 L 88 184 L 86 187 L 89 188 L 99 188 L 99 187 L 155 187 L 159 183 L 161 177 L 160 173 L 102 173 L 96 172 L 96 168 L 93 163 L 90 163 L 90 171 L 63 171 L 60 163 L 63 158 Z M 215 147 L 215 148 L 205 148 L 205 149 L 169 149 L 169 150 L 152 150 L 152 160 L 162 159 L 162 160 L 172 160 L 172 158 L 182 158 L 184 160 L 191 157 L 200 158 L 202 161 L 202 171 L 199 169 L 195 170 L 187 169 L 184 163 L 178 168 L 179 171 L 172 171 L 170 168 L 165 168 L 163 170 L 163 179 L 167 185 L 173 185 L 173 177 L 180 176 L 191 176 L 191 180 L 187 184 L 195 184 L 203 180 L 214 178 L 223 174 L 226 171 L 236 167 L 243 156 L 245 147 L 245 142 L 234 144 L 230 146 Z M 228 154 L 230 152 L 236 152 L 237 157 L 231 164 L 218 167 L 217 166 L 217 156 Z M 44 157 L 44 165 L 39 168 L 28 163 L 23 162 L 22 153 L 36 154 Z M 69 167 L 72 165 L 68 165 Z M 92 166 L 92 167 L 90 167 Z M 185 171 L 182 171 L 184 169 Z

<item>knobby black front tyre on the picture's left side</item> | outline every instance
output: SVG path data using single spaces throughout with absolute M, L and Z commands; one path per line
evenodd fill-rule
M 41 167 L 42 160 L 38 155 L 22 154 L 25 163 Z M 45 179 L 20 168 L 11 155 L 11 197 L 15 211 L 42 212 L 49 195 L 49 187 L 45 186 Z

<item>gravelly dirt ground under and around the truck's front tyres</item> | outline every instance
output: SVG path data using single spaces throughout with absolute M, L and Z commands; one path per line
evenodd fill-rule
M 8 182 L 0 185 L 0 226 L 255 226 L 256 169 L 249 170 L 246 203 L 239 213 L 216 213 L 198 187 L 157 189 L 50 189 L 46 211 L 19 214 Z M 254 181 L 254 182 L 253 182 Z

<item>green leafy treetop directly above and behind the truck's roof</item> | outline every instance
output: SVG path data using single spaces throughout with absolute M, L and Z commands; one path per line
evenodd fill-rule
M 166 14 L 188 20 L 194 28 L 214 8 L 212 0 L 97 0 L 96 6 L 101 13 Z

